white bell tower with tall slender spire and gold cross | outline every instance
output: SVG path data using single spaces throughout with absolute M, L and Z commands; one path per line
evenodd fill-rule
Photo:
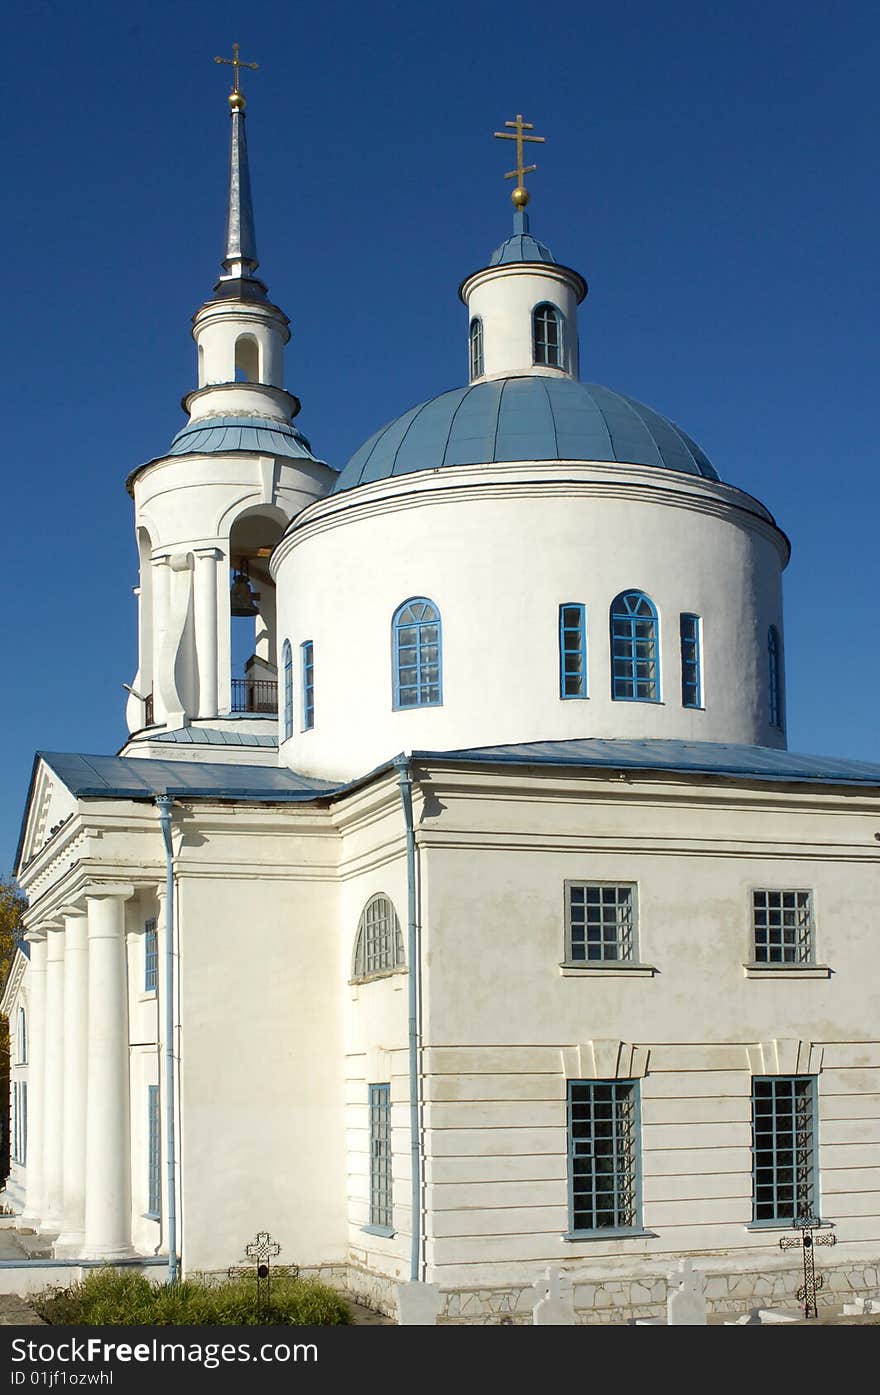
M 192 317 L 198 386 L 166 455 L 127 480 L 139 552 L 138 670 L 128 688 L 127 755 L 275 759 L 278 642 L 269 557 L 336 472 L 294 425 L 285 386 L 287 315 L 257 276 L 257 237 L 238 59 L 229 95 L 226 251 Z M 252 625 L 233 671 L 233 621 Z M 243 748 L 244 742 L 244 748 Z M 254 748 L 254 749 L 245 749 Z M 257 755 L 255 752 L 262 752 Z M 236 756 L 237 753 L 237 756 Z

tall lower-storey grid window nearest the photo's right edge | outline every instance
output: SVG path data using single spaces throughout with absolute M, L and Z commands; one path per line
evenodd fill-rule
M 816 1077 L 752 1078 L 752 1223 L 819 1218 Z

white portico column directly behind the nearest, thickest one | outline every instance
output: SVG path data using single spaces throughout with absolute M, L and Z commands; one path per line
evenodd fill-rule
M 79 1256 L 85 1239 L 85 1080 L 89 942 L 85 911 L 64 917 L 64 1211 L 56 1258 Z

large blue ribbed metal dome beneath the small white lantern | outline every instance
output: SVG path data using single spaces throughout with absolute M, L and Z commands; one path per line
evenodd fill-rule
M 354 452 L 333 492 L 494 460 L 621 460 L 718 478 L 699 445 L 651 407 L 595 382 L 534 375 L 455 388 L 411 407 Z

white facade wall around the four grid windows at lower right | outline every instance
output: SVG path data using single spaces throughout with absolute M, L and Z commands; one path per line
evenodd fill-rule
M 876 795 L 552 777 L 517 780 L 516 794 L 508 778 L 503 798 L 496 771 L 430 777 L 428 1278 L 503 1288 L 554 1262 L 575 1282 L 637 1282 L 695 1253 L 711 1274 L 752 1271 L 738 1292 L 760 1299 L 781 1229 L 748 1229 L 750 1077 L 774 1073 L 777 1049 L 780 1073 L 819 1077 L 820 1209 L 838 1242 L 823 1264 L 876 1254 Z M 637 884 L 651 976 L 561 972 L 566 877 Z M 789 886 L 813 890 L 816 958 L 831 972 L 748 976 L 750 890 Z M 566 1078 L 607 1077 L 580 1064 L 593 1041 L 635 1048 L 621 1077 L 643 1077 L 646 1237 L 562 1239 Z

